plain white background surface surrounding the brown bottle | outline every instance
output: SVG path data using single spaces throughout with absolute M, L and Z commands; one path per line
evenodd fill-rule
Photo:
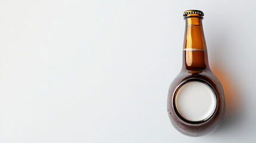
M 254 1 L 0 1 L 0 142 L 255 142 Z M 216 132 L 190 138 L 166 111 L 183 11 L 202 10 L 226 94 Z

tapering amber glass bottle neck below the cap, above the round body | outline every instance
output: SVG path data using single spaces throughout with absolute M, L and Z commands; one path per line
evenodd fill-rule
M 202 17 L 187 17 L 183 47 L 183 69 L 209 69 Z

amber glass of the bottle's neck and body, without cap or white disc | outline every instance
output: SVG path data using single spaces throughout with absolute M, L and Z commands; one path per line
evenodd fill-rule
M 172 125 L 181 133 L 188 136 L 202 136 L 216 130 L 224 116 L 225 98 L 220 81 L 214 76 L 208 64 L 205 36 L 202 27 L 202 15 L 187 14 L 186 30 L 183 47 L 183 66 L 177 77 L 169 86 L 167 108 Z M 217 106 L 207 120 L 190 122 L 183 119 L 175 108 L 175 93 L 186 82 L 196 80 L 206 83 L 212 88 L 217 97 Z

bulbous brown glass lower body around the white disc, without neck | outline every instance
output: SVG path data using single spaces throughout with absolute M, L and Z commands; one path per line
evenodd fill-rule
M 198 123 L 189 122 L 183 119 L 182 116 L 178 115 L 174 105 L 175 92 L 177 91 L 177 88 L 179 88 L 183 83 L 186 84 L 187 82 L 192 81 L 205 82 L 211 85 L 211 88 L 214 90 L 217 98 L 217 105 L 211 117 Z M 214 76 L 214 74 L 212 74 L 211 71 L 199 71 L 199 73 L 196 71 L 195 73 L 191 73 L 190 71 L 181 70 L 169 86 L 167 102 L 168 115 L 172 125 L 175 129 L 187 136 L 202 136 L 218 129 L 225 113 L 224 91 L 220 81 Z

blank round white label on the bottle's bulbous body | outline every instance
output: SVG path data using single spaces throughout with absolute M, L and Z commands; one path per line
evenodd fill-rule
M 184 119 L 199 122 L 208 119 L 216 108 L 217 100 L 212 89 L 202 82 L 187 82 L 178 90 L 175 105 Z

